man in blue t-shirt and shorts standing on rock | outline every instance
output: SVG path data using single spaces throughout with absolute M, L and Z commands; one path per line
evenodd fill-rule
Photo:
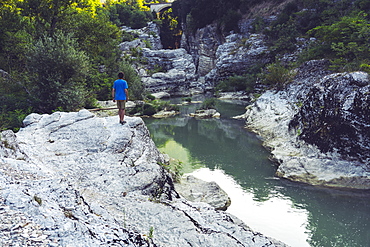
M 118 79 L 114 81 L 112 87 L 112 98 L 113 102 L 117 101 L 120 124 L 126 123 L 123 119 L 125 117 L 126 101 L 128 100 L 128 85 L 127 81 L 123 80 L 124 76 L 123 72 L 119 72 Z

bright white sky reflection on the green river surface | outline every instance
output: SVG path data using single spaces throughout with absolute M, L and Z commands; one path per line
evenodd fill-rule
M 246 191 L 222 170 L 199 169 L 192 173 L 205 181 L 217 183 L 230 196 L 227 212 L 243 220 L 255 231 L 278 239 L 290 246 L 309 246 L 306 240 L 308 211 L 294 206 L 290 198 L 279 193 L 265 201 L 256 201 L 253 192 Z

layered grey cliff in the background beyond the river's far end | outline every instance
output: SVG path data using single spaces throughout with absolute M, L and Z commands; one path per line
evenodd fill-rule
M 263 35 L 250 32 L 250 21 L 240 24 L 240 34 L 221 34 L 216 25 L 208 25 L 194 34 L 183 35 L 180 49 L 161 49 L 153 40 L 155 24 L 134 32 L 139 38 L 123 42 L 123 55 L 132 58 L 132 50 L 138 49 L 145 63 L 136 69 L 146 90 L 151 93 L 169 92 L 171 95 L 190 95 L 193 91 L 212 90 L 215 83 L 229 76 L 242 75 L 255 64 L 270 62 L 270 54 Z M 146 44 L 150 43 L 150 47 Z M 160 70 L 160 72 L 157 72 Z M 153 72 L 153 73 L 152 73 Z

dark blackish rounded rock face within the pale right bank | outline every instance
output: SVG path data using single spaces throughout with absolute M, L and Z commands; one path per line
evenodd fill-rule
M 338 73 L 315 83 L 290 126 L 322 152 L 370 163 L 368 74 Z M 369 165 L 370 169 L 370 165 Z

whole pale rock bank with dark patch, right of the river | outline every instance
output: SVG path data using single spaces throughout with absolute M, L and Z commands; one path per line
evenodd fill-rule
M 329 187 L 370 188 L 369 77 L 302 65 L 292 84 L 264 93 L 244 115 L 279 162 L 277 175 Z

